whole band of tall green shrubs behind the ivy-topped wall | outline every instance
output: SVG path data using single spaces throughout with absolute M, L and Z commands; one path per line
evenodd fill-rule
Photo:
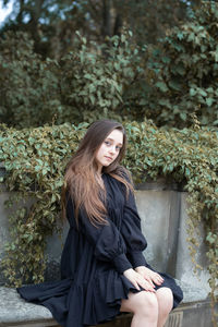
M 32 2 L 28 4 L 26 1 L 25 12 L 28 12 Z M 109 2 L 112 5 L 113 2 Z M 132 25 L 128 23 L 126 15 L 120 33 L 114 35 L 108 32 L 97 38 L 90 31 L 87 34 L 83 29 L 81 33 L 74 29 L 73 41 L 64 48 L 65 52 L 59 52 L 60 56 L 50 53 L 50 57 L 36 49 L 39 44 L 34 39 L 32 29 L 28 31 L 31 25 L 19 23 L 16 17 L 13 22 L 16 32 L 12 22 L 1 31 L 1 122 L 25 128 L 50 124 L 53 120 L 59 124 L 93 121 L 101 117 L 119 120 L 122 117 L 136 121 L 148 118 L 158 126 L 182 129 L 192 125 L 196 116 L 203 125 L 217 126 L 218 5 L 215 1 L 202 1 L 198 5 L 191 2 L 192 5 L 185 8 L 184 2 L 175 2 L 172 8 L 177 9 L 179 16 L 183 13 L 183 21 L 175 20 L 177 14 L 169 11 L 168 20 L 171 24 L 173 22 L 173 26 L 169 23 L 164 28 L 159 20 L 156 26 L 165 33 L 159 31 L 157 37 L 153 36 L 154 43 L 146 35 L 141 36 L 142 28 L 147 31 L 141 17 L 135 19 L 135 34 L 128 32 Z M 81 2 L 80 10 L 87 15 L 88 9 L 84 3 Z M 138 5 L 143 3 L 148 5 L 147 1 L 138 1 Z M 43 7 L 41 15 L 49 5 L 51 3 L 47 9 Z M 68 1 L 62 5 L 70 8 Z M 132 10 L 133 3 L 126 1 L 125 5 Z M 125 14 L 125 5 L 122 15 Z M 162 7 L 169 4 L 157 1 L 156 5 L 156 11 L 148 5 L 150 21 L 153 11 L 160 15 Z M 102 11 L 102 8 L 98 10 Z M 107 7 L 111 20 L 109 26 L 117 11 L 116 7 Z M 140 12 L 147 13 L 144 7 Z M 48 15 L 48 25 L 55 13 Z M 131 14 L 134 16 L 136 12 L 131 11 Z M 170 14 L 173 14 L 177 24 Z M 56 20 L 53 22 L 57 23 Z M 28 34 L 22 32 L 24 27 Z M 41 43 L 44 39 L 52 44 L 52 38 L 41 36 Z

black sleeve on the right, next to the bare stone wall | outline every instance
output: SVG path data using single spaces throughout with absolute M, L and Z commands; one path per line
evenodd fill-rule
M 147 242 L 142 233 L 141 218 L 137 213 L 134 194 L 130 191 L 125 199 L 121 233 L 128 247 L 128 257 L 133 267 L 146 266 L 143 251 Z

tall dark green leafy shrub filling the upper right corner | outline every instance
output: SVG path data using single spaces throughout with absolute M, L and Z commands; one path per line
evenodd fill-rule
M 218 3 L 202 1 L 149 57 L 145 113 L 159 125 L 218 125 Z

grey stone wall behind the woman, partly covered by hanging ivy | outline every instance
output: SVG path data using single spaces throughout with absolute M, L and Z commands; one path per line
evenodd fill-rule
M 193 264 L 189 255 L 186 242 L 186 196 L 185 192 L 178 190 L 174 184 L 145 183 L 138 185 L 136 191 L 136 204 L 142 218 L 142 229 L 147 239 L 148 246 L 145 257 L 156 269 L 167 271 L 177 279 L 190 282 L 208 293 L 208 274 L 206 270 L 207 259 L 203 242 L 204 231 L 199 235 L 199 251 L 197 259 L 204 269 L 199 276 L 193 272 Z M 8 210 L 4 208 L 4 201 L 8 197 L 5 191 L 0 193 L 0 261 L 3 257 L 3 244 L 9 241 L 8 233 Z M 68 233 L 68 225 L 63 228 L 62 239 L 53 235 L 48 240 L 47 254 L 49 258 L 47 280 L 59 277 L 59 263 Z M 3 277 L 0 275 L 0 283 L 3 284 Z

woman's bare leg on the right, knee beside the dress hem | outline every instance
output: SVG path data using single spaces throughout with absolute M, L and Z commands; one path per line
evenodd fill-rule
M 172 291 L 169 288 L 160 288 L 156 292 L 158 302 L 158 323 L 157 327 L 164 327 L 173 305 Z

